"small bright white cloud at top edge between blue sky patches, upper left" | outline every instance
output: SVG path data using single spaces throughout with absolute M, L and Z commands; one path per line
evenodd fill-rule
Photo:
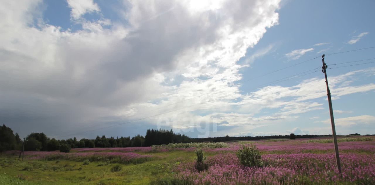
M 72 8 L 71 17 L 78 20 L 86 13 L 100 12 L 98 4 L 93 0 L 67 0 L 68 5 Z

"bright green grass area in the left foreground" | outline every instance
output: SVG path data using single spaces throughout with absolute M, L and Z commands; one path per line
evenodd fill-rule
M 0 185 L 17 184 L 149 184 L 156 177 L 172 175 L 172 168 L 184 160 L 193 160 L 193 151 L 158 152 L 157 160 L 142 164 L 105 164 L 81 161 L 25 159 L 18 161 L 18 156 L 0 156 Z M 58 162 L 57 162 L 58 161 Z M 115 165 L 121 170 L 111 171 Z M 119 168 L 119 167 L 115 167 Z M 20 178 L 18 178 L 20 177 Z

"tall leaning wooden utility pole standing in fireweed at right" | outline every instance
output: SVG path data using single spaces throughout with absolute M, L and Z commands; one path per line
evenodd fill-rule
M 337 136 L 336 136 L 336 129 L 335 129 L 335 119 L 333 119 L 333 108 L 332 108 L 332 99 L 331 99 L 331 91 L 328 87 L 328 79 L 327 79 L 327 65 L 324 62 L 324 55 L 322 55 L 322 72 L 324 72 L 324 76 L 326 77 L 326 85 L 327 85 L 327 96 L 328 96 L 328 104 L 329 104 L 329 113 L 331 116 L 331 126 L 332 126 L 332 135 L 333 135 L 333 143 L 335 143 L 335 153 L 336 153 L 336 163 L 337 163 L 337 169 L 339 170 L 339 173 L 341 174 L 341 164 L 340 164 L 340 156 L 339 156 L 339 147 L 337 146 Z

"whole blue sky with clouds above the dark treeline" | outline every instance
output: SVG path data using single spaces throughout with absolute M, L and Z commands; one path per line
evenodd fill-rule
M 374 7 L 1 1 L 0 123 L 58 139 L 332 134 L 326 54 L 337 134 L 375 134 Z

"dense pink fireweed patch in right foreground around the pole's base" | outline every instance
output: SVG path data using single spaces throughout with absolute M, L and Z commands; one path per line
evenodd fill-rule
M 187 184 L 374 184 L 375 154 L 340 155 L 342 176 L 334 154 L 266 154 L 264 167 L 244 167 L 236 154 L 225 153 L 207 159 L 208 169 L 198 172 L 189 162 L 175 168 L 175 178 Z

